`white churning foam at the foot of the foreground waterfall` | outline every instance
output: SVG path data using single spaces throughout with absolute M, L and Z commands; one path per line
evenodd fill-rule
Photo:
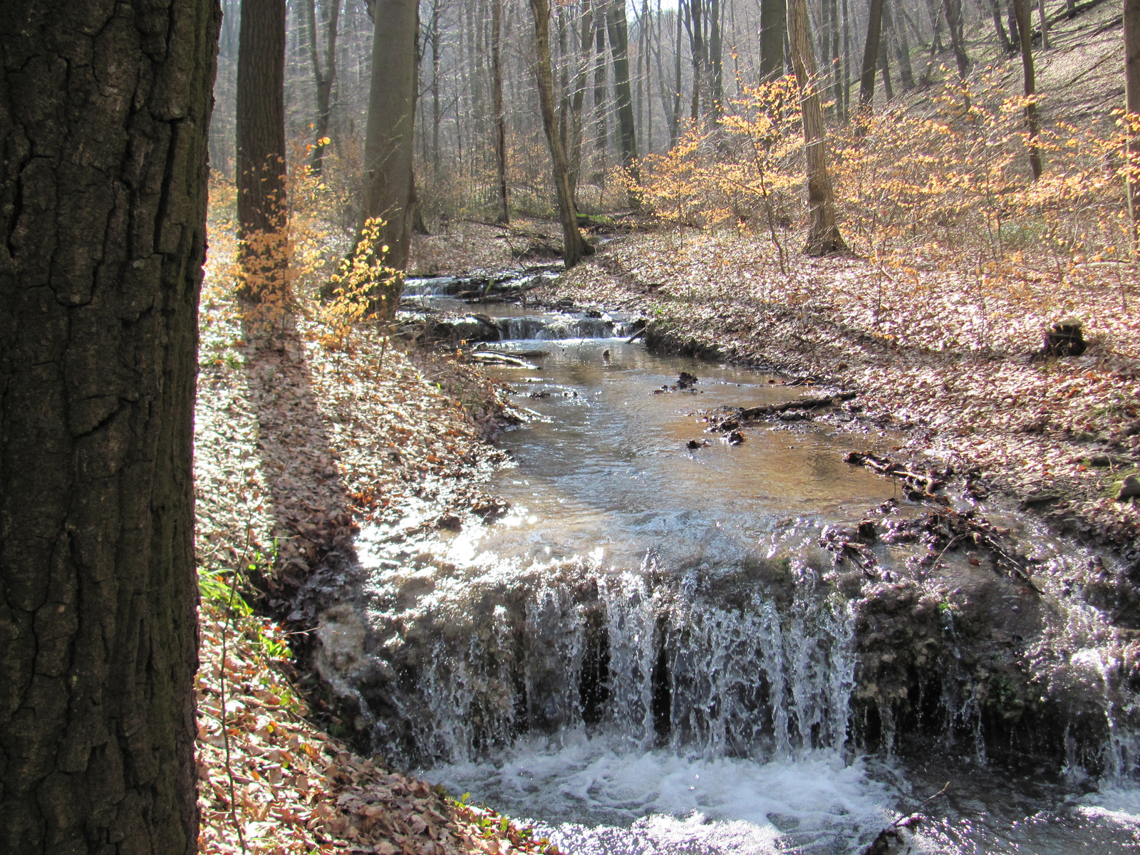
M 542 817 L 536 832 L 575 855 L 838 855 L 861 850 L 898 816 L 888 788 L 833 751 L 789 762 L 705 759 L 626 752 L 578 733 L 561 746 L 520 743 L 496 763 L 423 774 L 477 801 Z

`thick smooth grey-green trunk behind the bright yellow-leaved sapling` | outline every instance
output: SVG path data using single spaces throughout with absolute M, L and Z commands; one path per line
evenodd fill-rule
M 365 137 L 364 215 L 381 219 L 385 263 L 402 270 L 412 237 L 412 168 L 416 115 L 416 0 L 376 0 L 372 89 Z M 381 314 L 396 310 L 394 292 L 382 296 Z

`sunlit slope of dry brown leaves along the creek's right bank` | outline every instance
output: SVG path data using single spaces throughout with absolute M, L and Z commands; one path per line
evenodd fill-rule
M 1135 539 L 1140 512 L 1110 497 L 1127 459 L 1140 461 L 1135 283 L 1099 268 L 1058 282 L 1027 267 L 979 284 L 914 262 L 797 258 L 784 277 L 759 238 L 670 229 L 614 242 L 536 296 L 638 310 L 678 342 L 857 388 L 866 415 L 911 430 L 912 447 L 980 465 L 1020 498 L 1058 492 L 1051 512 L 1084 535 Z M 1032 359 L 1043 331 L 1072 315 L 1089 352 Z M 1105 450 L 1123 464 L 1089 464 Z

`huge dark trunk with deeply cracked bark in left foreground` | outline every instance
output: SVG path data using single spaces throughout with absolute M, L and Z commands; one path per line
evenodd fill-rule
M 0 6 L 0 850 L 197 849 L 217 0 Z

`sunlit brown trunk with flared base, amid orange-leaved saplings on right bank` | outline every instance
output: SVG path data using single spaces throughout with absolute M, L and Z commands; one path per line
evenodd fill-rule
M 812 54 L 812 34 L 807 23 L 807 0 L 789 0 L 788 30 L 791 41 L 792 66 L 803 97 L 804 152 L 807 160 L 807 206 L 812 225 L 804 252 L 826 255 L 847 249 L 836 225 L 836 199 L 828 174 L 828 140 L 823 130 L 823 111 L 815 91 L 815 57 Z M 874 73 L 874 66 L 871 66 Z

